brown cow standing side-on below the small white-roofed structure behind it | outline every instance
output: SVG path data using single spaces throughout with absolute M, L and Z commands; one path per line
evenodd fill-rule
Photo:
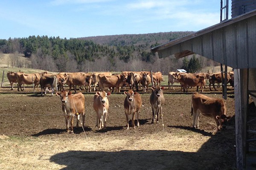
M 198 86 L 201 87 L 201 92 L 204 91 L 204 85 L 205 85 L 205 79 L 206 79 L 206 74 L 205 73 L 198 73 L 198 74 L 179 74 L 177 76 L 177 81 L 180 82 L 180 85 L 183 87 L 183 91 L 188 92 L 188 86 L 191 87 L 197 87 L 198 91 Z

